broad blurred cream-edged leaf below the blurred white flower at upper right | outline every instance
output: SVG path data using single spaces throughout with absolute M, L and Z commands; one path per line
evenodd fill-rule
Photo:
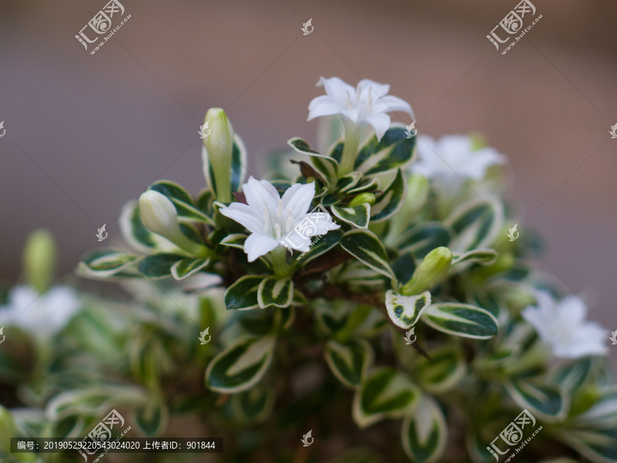
M 455 232 L 450 249 L 464 253 L 491 246 L 503 228 L 503 216 L 503 203 L 497 199 L 461 204 L 445 221 Z

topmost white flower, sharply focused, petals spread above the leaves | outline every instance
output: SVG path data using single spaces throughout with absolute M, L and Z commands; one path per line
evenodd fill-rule
M 370 125 L 381 140 L 390 126 L 390 117 L 387 112 L 403 111 L 413 117 L 409 103 L 403 99 L 388 95 L 390 86 L 379 84 L 373 80 L 364 79 L 358 82 L 354 89 L 350 84 L 333 77 L 321 78 L 317 85 L 326 88 L 326 95 L 313 98 L 309 104 L 309 119 L 315 117 L 341 114 L 357 126 Z

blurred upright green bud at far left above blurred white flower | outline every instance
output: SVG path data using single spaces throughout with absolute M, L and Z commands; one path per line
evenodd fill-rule
M 48 230 L 35 230 L 23 251 L 25 281 L 42 293 L 56 276 L 56 243 Z

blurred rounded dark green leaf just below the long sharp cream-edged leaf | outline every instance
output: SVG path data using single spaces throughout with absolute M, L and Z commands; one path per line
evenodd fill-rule
M 455 346 L 431 350 L 431 359 L 418 357 L 414 378 L 424 390 L 444 394 L 461 384 L 467 366 L 463 354 Z

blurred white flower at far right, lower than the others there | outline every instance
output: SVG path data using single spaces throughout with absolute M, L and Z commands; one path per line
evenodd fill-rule
M 522 317 L 537 331 L 555 357 L 577 359 L 598 355 L 604 348 L 608 330 L 585 321 L 587 306 L 578 296 L 556 302 L 547 292 L 536 293 L 537 307 L 526 307 Z

